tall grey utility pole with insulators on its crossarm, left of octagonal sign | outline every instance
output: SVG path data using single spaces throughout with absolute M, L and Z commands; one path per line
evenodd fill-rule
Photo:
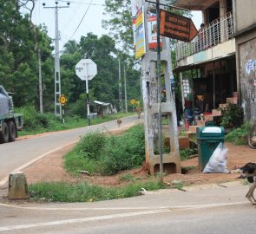
M 56 32 L 55 32 L 55 115 L 62 117 L 62 105 L 59 102 L 59 98 L 62 94 L 61 84 L 61 71 L 60 71 L 60 51 L 59 51 L 59 23 L 58 23 L 58 10 L 61 8 L 69 8 L 69 2 L 67 6 L 58 6 L 58 2 L 55 2 L 56 6 L 46 7 L 46 3 L 43 3 L 44 9 L 55 9 L 56 14 Z

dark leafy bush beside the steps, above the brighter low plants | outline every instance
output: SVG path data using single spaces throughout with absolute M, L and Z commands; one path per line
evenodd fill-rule
M 223 111 L 220 125 L 226 128 L 240 127 L 243 123 L 244 112 L 242 107 L 237 104 L 230 103 Z

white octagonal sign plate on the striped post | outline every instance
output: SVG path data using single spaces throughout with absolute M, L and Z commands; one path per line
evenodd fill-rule
M 90 59 L 82 59 L 75 65 L 75 75 L 82 81 L 90 81 L 97 75 L 97 65 Z

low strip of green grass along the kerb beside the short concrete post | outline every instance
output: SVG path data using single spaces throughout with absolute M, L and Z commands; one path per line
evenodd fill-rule
M 92 202 L 116 198 L 130 198 L 141 195 L 141 188 L 147 191 L 166 188 L 159 180 L 135 182 L 122 187 L 103 187 L 89 185 L 86 182 L 78 184 L 52 182 L 29 185 L 30 198 L 52 202 Z

